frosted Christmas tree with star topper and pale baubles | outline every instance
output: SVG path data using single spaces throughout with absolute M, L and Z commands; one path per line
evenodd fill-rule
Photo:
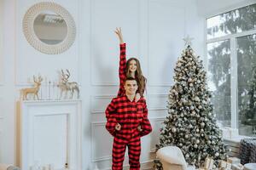
M 216 115 L 212 114 L 211 94 L 207 89 L 207 74 L 202 61 L 190 47 L 177 60 L 174 69 L 175 84 L 168 96 L 168 116 L 160 129 L 157 150 L 175 145 L 183 151 L 185 160 L 201 167 L 207 156 L 215 161 L 226 159 L 226 150 Z M 154 161 L 155 169 L 162 169 L 160 161 Z

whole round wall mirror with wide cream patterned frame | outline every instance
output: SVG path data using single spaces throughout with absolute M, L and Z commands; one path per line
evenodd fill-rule
M 76 37 L 73 17 L 57 3 L 36 3 L 26 11 L 23 32 L 27 42 L 44 54 L 61 54 Z M 61 36 L 60 36 L 61 35 Z

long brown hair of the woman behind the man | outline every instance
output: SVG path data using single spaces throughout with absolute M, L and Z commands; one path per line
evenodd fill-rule
M 126 77 L 131 77 L 131 71 L 129 71 L 129 65 L 131 60 L 135 60 L 137 64 L 137 70 L 135 71 L 135 78 L 137 79 L 138 93 L 143 96 L 146 89 L 147 78 L 143 76 L 143 71 L 141 69 L 140 61 L 134 57 L 130 58 L 126 62 L 125 74 Z

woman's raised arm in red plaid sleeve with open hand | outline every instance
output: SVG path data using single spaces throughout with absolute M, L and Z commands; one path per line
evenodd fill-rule
M 121 28 L 116 28 L 114 31 L 116 35 L 119 37 L 119 45 L 120 45 L 120 55 L 119 55 L 119 92 L 118 96 L 122 96 L 125 94 L 125 67 L 126 67 L 126 44 L 123 40 L 123 35 Z

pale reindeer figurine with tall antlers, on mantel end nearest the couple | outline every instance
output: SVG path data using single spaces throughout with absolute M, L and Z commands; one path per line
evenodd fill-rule
M 79 99 L 79 84 L 78 82 L 68 82 L 68 78 L 70 77 L 70 72 L 68 70 L 67 74 L 61 70 L 61 82 L 58 84 L 58 87 L 61 89 L 61 96 L 62 93 L 65 91 L 65 98 L 67 97 L 67 91 L 71 92 L 70 99 L 73 99 L 74 91 L 77 91 L 78 99 Z

